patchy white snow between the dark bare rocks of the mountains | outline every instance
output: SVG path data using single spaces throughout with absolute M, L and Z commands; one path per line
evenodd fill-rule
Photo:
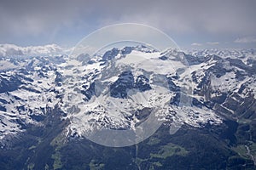
M 17 56 L 17 55 L 42 55 L 42 54 L 61 54 L 63 48 L 52 44 L 38 47 L 26 47 L 21 48 L 11 44 L 0 45 L 0 55 L 2 56 Z M 245 64 L 247 59 L 254 59 L 255 54 L 253 51 L 247 50 L 234 50 L 234 51 L 219 51 L 219 50 L 204 50 L 191 52 L 197 56 L 206 56 L 207 54 L 218 54 L 223 58 L 238 57 Z M 38 75 L 39 71 L 43 71 L 42 65 L 38 59 L 33 58 L 33 72 L 26 77 L 32 78 L 33 82 L 25 82 L 22 85 L 26 88 L 32 88 L 40 93 L 31 92 L 26 89 L 15 90 L 10 93 L 0 94 L 0 99 L 7 101 L 7 104 L 3 104 L 7 111 L 0 111 L 0 140 L 8 134 L 15 134 L 21 132 L 20 126 L 16 119 L 22 119 L 26 123 L 37 124 L 30 117 L 29 111 L 33 111 L 32 114 L 43 115 L 45 114 L 45 108 L 54 108 L 55 105 L 60 105 L 63 111 L 67 112 L 67 117 L 71 120 L 71 124 L 67 127 L 67 132 L 78 133 L 80 136 L 83 133 L 88 133 L 93 130 L 96 123 L 105 123 L 104 126 L 113 127 L 128 127 L 134 129 L 137 122 L 140 122 L 134 112 L 137 110 L 143 110 L 143 108 L 154 109 L 158 108 L 157 114 L 159 116 L 171 116 L 174 122 L 186 123 L 193 127 L 201 127 L 202 124 L 210 123 L 222 123 L 222 118 L 217 114 L 207 109 L 206 107 L 195 106 L 166 106 L 169 100 L 174 97 L 174 94 L 167 90 L 165 82 L 162 82 L 162 86 L 150 84 L 151 90 L 145 92 L 139 92 L 136 89 L 129 90 L 127 99 L 117 99 L 109 95 L 108 87 L 111 83 L 115 82 L 119 77 L 119 73 L 123 71 L 124 65 L 130 65 L 131 71 L 136 79 L 138 76 L 149 72 L 149 83 L 153 82 L 153 78 L 158 75 L 173 76 L 177 71 L 179 73 L 179 79 L 173 80 L 177 86 L 189 89 L 193 91 L 195 85 L 202 81 L 202 77 L 205 76 L 205 71 L 212 65 L 215 65 L 217 61 L 209 60 L 207 63 L 201 63 L 199 65 L 184 65 L 183 62 L 177 59 L 177 56 L 181 59 L 183 54 L 175 50 L 168 50 L 165 55 L 168 57 L 166 60 L 159 59 L 163 55 L 160 52 L 144 53 L 139 50 L 133 50 L 131 54 L 123 56 L 118 54 L 115 58 L 116 62 L 110 61 L 103 65 L 100 61 L 100 57 L 97 56 L 95 63 L 91 65 L 83 65 L 81 62 L 73 58 L 64 57 L 67 59 L 66 63 L 60 65 L 49 64 L 57 69 L 64 77 L 64 82 L 61 87 L 55 86 L 55 71 L 44 70 L 46 77 Z M 31 60 L 26 59 L 20 62 L 18 67 L 27 65 Z M 115 65 L 113 65 L 115 64 Z M 8 67 L 6 67 L 8 65 Z M 45 65 L 45 66 L 49 66 Z M 14 65 L 10 60 L 0 60 L 0 71 L 5 71 L 5 74 L 0 73 L 0 77 L 8 78 L 15 74 L 15 71 L 6 70 L 7 68 L 15 69 L 17 65 Z M 130 67 L 129 67 L 130 68 Z M 254 97 L 256 96 L 256 82 L 255 77 L 246 77 L 244 81 L 238 82 L 236 80 L 236 74 L 231 71 L 232 67 L 226 63 L 227 72 L 223 77 L 215 77 L 212 75 L 211 83 L 212 90 L 221 92 L 228 92 L 237 90 L 241 87 L 241 84 L 247 84 L 247 86 L 253 90 Z M 115 70 L 116 69 L 116 70 Z M 109 73 L 107 72 L 109 71 Z M 198 78 L 198 82 L 192 82 L 191 72 L 195 71 L 195 76 Z M 79 94 L 79 90 L 84 90 L 82 86 L 89 88 L 90 83 L 95 80 L 100 80 L 102 83 L 106 83 L 106 87 L 102 87 L 99 91 L 102 94 L 93 96 L 89 101 L 84 101 L 84 95 Z M 58 91 L 64 94 L 63 99 L 56 99 L 56 94 L 53 91 Z M 77 91 L 76 91 L 77 90 Z M 187 94 L 199 100 L 203 100 L 202 96 L 196 94 Z M 241 97 L 245 97 L 245 94 L 241 94 Z M 15 99 L 20 98 L 20 99 Z M 256 97 L 255 97 L 256 99 Z M 17 108 L 24 106 L 25 111 L 20 111 Z M 72 111 L 67 111 L 72 109 Z M 176 114 L 172 114 L 175 112 Z M 131 116 L 131 120 L 127 117 Z M 96 122 L 97 121 L 97 122 Z M 69 134 L 70 134 L 69 133 Z

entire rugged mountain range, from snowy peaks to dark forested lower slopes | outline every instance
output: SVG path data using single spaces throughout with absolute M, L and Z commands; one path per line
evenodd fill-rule
M 255 168 L 254 49 L 67 56 L 5 44 L 0 56 L 1 169 Z M 150 131 L 152 112 L 163 124 L 139 144 L 86 138 L 102 127 Z

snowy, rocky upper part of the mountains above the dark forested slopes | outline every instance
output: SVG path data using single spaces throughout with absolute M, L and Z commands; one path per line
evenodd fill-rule
M 68 137 L 95 127 L 136 129 L 154 108 L 171 127 L 204 127 L 255 103 L 255 50 L 126 47 L 90 57 L 54 55 L 63 52 L 56 45 L 0 47 L 0 139 L 41 126 L 55 107 L 70 122 Z

